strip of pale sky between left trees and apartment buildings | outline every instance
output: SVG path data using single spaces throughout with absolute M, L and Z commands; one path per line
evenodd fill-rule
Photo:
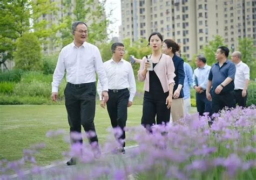
M 107 31 L 113 31 L 109 35 L 109 39 L 119 37 L 119 26 L 121 25 L 121 0 L 106 0 L 105 4 L 106 17 L 112 23 L 107 28 Z M 110 11 L 112 14 L 110 15 Z

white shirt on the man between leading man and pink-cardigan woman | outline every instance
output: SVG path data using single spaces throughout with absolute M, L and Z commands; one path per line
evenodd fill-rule
M 113 59 L 111 59 L 104 62 L 103 65 L 106 71 L 109 89 L 129 88 L 129 101 L 132 102 L 136 93 L 136 83 L 131 63 L 123 59 L 116 63 Z M 101 80 L 98 81 L 97 91 L 99 94 L 99 99 L 102 100 L 102 83 L 100 83 L 100 81 Z

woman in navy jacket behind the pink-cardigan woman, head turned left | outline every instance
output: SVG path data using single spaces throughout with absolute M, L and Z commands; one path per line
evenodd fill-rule
M 176 55 L 180 46 L 172 39 L 165 39 L 163 44 L 163 53 L 172 57 L 175 67 L 174 77 L 175 85 L 173 88 L 173 100 L 171 107 L 172 121 L 177 122 L 180 118 L 184 117 L 184 92 L 183 84 L 185 79 L 184 60 Z

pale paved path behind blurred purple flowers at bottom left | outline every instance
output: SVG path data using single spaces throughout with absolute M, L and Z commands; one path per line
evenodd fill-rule
M 89 177 L 85 177 L 85 174 L 97 174 L 100 172 L 92 172 L 91 167 L 107 167 L 108 169 L 123 169 L 127 165 L 137 164 L 138 160 L 134 157 L 132 158 L 132 151 L 136 150 L 138 146 L 130 146 L 126 147 L 125 154 L 112 154 L 112 153 L 104 153 L 102 156 L 89 164 L 77 164 L 77 165 L 66 165 L 66 160 L 46 165 L 45 167 L 40 168 L 40 172 L 37 174 L 33 174 L 30 170 L 24 172 L 24 177 L 19 178 L 17 174 L 11 176 L 11 179 L 93 179 Z M 100 169 L 99 171 L 104 169 Z M 84 175 L 83 175 L 84 173 Z M 104 179 L 112 179 L 110 176 L 104 177 Z M 133 180 L 133 176 L 130 175 L 127 177 L 129 180 Z

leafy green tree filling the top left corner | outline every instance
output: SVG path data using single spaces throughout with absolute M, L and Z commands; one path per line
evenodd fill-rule
M 33 30 L 41 43 L 50 34 L 55 34 L 57 28 L 48 27 L 46 20 L 39 21 L 42 15 L 57 11 L 55 3 L 49 0 L 2 0 L 0 2 L 0 54 L 2 62 L 13 59 L 17 38 Z M 30 22 L 33 23 L 30 23 Z M 54 31 L 55 30 L 55 31 Z

